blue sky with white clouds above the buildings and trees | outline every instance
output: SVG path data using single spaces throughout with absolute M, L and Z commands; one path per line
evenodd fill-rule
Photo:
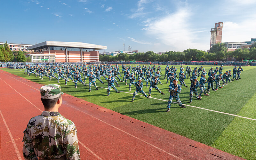
M 0 42 L 84 42 L 105 51 L 163 52 L 210 47 L 223 22 L 222 42 L 256 37 L 255 0 L 8 0 L 1 2 Z M 104 52 L 104 50 L 100 50 Z

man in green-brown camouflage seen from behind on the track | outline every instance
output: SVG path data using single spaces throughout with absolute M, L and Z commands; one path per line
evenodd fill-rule
M 80 160 L 76 126 L 58 112 L 63 94 L 60 85 L 42 86 L 40 94 L 44 111 L 31 118 L 24 130 L 24 159 Z

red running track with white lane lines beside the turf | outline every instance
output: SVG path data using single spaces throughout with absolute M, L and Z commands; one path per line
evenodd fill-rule
M 23 159 L 23 131 L 44 110 L 41 86 L 0 70 L 0 159 Z M 242 159 L 68 94 L 62 100 L 59 112 L 76 124 L 81 159 Z

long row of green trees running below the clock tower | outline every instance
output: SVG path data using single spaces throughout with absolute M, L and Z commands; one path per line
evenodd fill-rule
M 228 51 L 225 44 L 214 44 L 209 52 L 197 49 L 187 49 L 183 52 L 169 51 L 162 55 L 153 51 L 139 52 L 135 54 L 120 53 L 116 56 L 100 55 L 100 61 L 242 61 L 256 60 L 256 43 L 250 49 L 237 49 Z

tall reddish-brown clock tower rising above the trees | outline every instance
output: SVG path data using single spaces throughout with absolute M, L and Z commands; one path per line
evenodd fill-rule
M 221 37 L 222 37 L 222 27 L 223 22 L 215 23 L 214 28 L 210 30 L 211 32 L 211 46 L 216 43 L 221 43 Z

